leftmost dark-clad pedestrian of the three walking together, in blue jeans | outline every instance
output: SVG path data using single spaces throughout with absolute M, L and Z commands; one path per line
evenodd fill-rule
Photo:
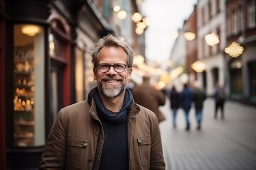
M 177 117 L 177 112 L 178 108 L 180 107 L 180 102 L 179 102 L 179 97 L 178 97 L 178 91 L 176 91 L 176 87 L 173 86 L 171 88 L 171 93 L 170 93 L 170 106 L 171 106 L 171 111 L 172 111 L 172 117 L 173 117 L 173 126 L 176 128 L 176 117 Z

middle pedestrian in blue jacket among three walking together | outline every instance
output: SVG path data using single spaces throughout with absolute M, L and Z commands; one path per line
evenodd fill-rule
M 185 114 L 185 120 L 186 120 L 186 128 L 185 130 L 190 130 L 190 119 L 189 119 L 189 111 L 191 110 L 191 105 L 193 101 L 193 91 L 188 86 L 188 84 L 183 84 L 183 90 L 180 94 L 180 101 L 181 101 L 181 108 L 184 111 Z

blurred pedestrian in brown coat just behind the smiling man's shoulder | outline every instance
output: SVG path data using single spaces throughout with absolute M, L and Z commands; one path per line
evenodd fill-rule
M 150 75 L 144 74 L 142 77 L 142 84 L 139 84 L 132 89 L 135 103 L 138 103 L 145 108 L 153 111 L 159 120 L 159 123 L 166 118 L 159 110 L 159 106 L 164 106 L 166 103 L 166 96 L 163 91 L 157 90 L 150 84 Z

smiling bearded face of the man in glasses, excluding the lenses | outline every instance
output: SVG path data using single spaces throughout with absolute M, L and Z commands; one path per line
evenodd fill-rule
M 102 63 L 110 65 L 127 64 L 127 54 L 122 47 L 103 47 L 97 57 L 97 64 Z M 100 72 L 98 68 L 94 69 L 94 77 L 97 80 L 100 93 L 111 98 L 124 92 L 131 75 L 132 68 L 128 67 L 122 73 L 117 73 L 114 67 L 110 67 L 110 70 L 105 73 Z

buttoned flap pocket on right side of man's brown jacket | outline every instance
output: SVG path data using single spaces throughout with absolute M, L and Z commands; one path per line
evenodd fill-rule
M 150 147 L 151 147 L 150 135 L 137 137 L 137 142 L 139 145 L 139 157 L 142 162 L 142 165 L 150 164 Z

